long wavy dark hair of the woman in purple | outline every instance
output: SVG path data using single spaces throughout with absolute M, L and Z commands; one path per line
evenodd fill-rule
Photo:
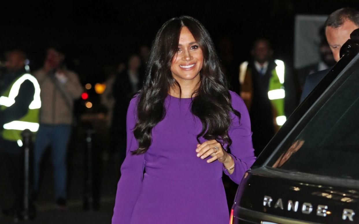
M 231 124 L 230 112 L 240 118 L 237 110 L 231 104 L 227 78 L 220 66 L 214 44 L 204 26 L 190 16 L 181 16 L 165 22 L 159 29 L 151 47 L 149 61 L 146 67 L 144 86 L 138 94 L 137 122 L 134 136 L 138 148 L 132 154 L 143 154 L 151 145 L 151 131 L 165 116 L 164 100 L 171 86 L 180 84 L 172 77 L 172 58 L 177 53 L 178 42 L 182 27 L 187 27 L 198 43 L 203 53 L 203 67 L 200 71 L 198 89 L 192 93 L 191 112 L 202 123 L 202 130 L 197 135 L 197 141 L 202 136 L 207 140 L 216 139 L 232 144 L 228 135 Z

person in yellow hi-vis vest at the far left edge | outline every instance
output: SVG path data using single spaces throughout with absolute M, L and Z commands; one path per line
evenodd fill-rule
M 1 79 L 0 96 L 0 163 L 7 167 L 15 195 L 11 214 L 15 215 L 15 219 L 21 219 L 24 189 L 21 133 L 25 129 L 36 133 L 39 128 L 40 87 L 36 78 L 28 72 L 24 52 L 13 50 L 5 57 L 7 73 Z

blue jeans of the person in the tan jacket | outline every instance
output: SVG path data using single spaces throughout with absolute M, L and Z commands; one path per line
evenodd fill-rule
M 40 124 L 34 150 L 34 191 L 39 190 L 40 162 L 46 147 L 51 145 L 54 172 L 55 198 L 66 199 L 67 185 L 67 144 L 70 139 L 70 124 Z

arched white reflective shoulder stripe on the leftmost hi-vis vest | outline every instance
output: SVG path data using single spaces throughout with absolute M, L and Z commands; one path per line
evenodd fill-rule
M 13 86 L 11 86 L 9 96 L 0 97 L 0 105 L 4 105 L 7 107 L 13 105 L 15 103 L 15 97 L 19 94 L 20 86 L 25 80 L 31 81 L 35 87 L 34 100 L 29 105 L 29 109 L 41 108 L 40 85 L 37 82 L 36 78 L 30 74 L 24 74 L 14 82 Z

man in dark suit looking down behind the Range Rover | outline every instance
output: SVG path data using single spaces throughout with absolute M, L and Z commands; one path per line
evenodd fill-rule
M 340 59 L 340 48 L 350 38 L 350 33 L 359 28 L 359 11 L 353 8 L 342 8 L 334 11 L 325 22 L 325 36 L 335 61 Z M 300 102 L 318 85 L 330 69 L 308 75 L 303 87 Z

